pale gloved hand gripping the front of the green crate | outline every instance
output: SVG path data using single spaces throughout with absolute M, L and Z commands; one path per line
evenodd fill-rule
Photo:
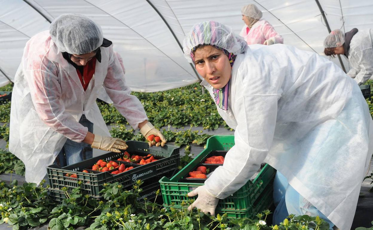
M 212 216 L 215 216 L 215 208 L 219 202 L 219 198 L 207 191 L 204 185 L 199 186 L 188 193 L 188 196 L 195 195 L 198 195 L 198 198 L 188 207 L 188 211 L 191 211 L 193 208 L 199 208 L 201 209 L 201 212 L 204 212 L 205 214 L 210 212 Z

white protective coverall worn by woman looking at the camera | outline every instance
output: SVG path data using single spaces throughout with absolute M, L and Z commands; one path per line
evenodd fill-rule
M 214 98 L 212 86 L 201 83 Z M 316 53 L 252 45 L 232 67 L 228 110 L 235 145 L 206 180 L 220 199 L 265 161 L 341 230 L 350 230 L 372 156 L 373 121 L 360 88 Z

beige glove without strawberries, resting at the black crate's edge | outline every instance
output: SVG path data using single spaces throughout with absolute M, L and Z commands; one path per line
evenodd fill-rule
M 110 152 L 120 152 L 120 150 L 127 149 L 128 145 L 122 139 L 95 134 L 91 147 Z

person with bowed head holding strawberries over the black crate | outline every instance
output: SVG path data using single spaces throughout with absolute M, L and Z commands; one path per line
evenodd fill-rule
M 26 43 L 12 94 L 9 150 L 25 163 L 27 182 L 39 183 L 57 157 L 65 166 L 91 158 L 91 147 L 127 148 L 110 137 L 96 104 L 101 89 L 134 129 L 166 143 L 126 86 L 112 42 L 91 19 L 61 15 Z M 93 134 L 93 124 L 107 136 Z

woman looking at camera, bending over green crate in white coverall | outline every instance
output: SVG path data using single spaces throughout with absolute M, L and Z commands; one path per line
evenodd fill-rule
M 248 48 L 213 21 L 192 27 L 184 54 L 235 129 L 223 166 L 188 193 L 198 195 L 189 210 L 214 215 L 219 199 L 241 188 L 264 161 L 278 171 L 274 224 L 307 214 L 350 229 L 373 149 L 373 121 L 358 85 L 316 53 L 286 45 Z

